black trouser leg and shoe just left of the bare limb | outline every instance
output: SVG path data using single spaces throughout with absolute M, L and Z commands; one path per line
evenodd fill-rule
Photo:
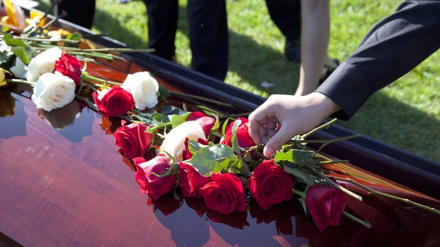
M 288 60 L 301 60 L 301 5 L 299 0 L 266 0 L 269 15 L 286 37 L 284 53 Z

